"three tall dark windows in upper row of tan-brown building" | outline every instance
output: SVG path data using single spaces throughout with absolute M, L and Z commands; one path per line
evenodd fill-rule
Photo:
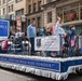
M 41 10 L 41 1 L 38 2 L 38 10 Z M 28 5 L 28 14 L 30 14 L 31 12 L 36 12 L 37 11 L 37 3 L 33 4 L 29 4 Z

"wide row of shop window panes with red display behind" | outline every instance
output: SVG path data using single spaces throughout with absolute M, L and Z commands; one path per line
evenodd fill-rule
M 69 18 L 70 14 L 73 13 L 73 19 L 72 21 L 79 21 L 82 19 L 82 6 L 69 9 L 69 10 L 63 10 L 57 11 L 57 14 L 63 18 L 64 23 L 71 22 Z

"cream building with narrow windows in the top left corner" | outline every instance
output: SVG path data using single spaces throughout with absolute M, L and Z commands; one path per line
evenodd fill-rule
M 0 18 L 9 18 L 9 15 L 14 14 L 14 0 L 0 0 Z

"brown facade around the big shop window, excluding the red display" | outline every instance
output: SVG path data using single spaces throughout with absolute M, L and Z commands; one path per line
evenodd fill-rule
M 69 29 L 69 25 L 74 25 L 77 33 L 82 32 L 82 1 L 81 0 L 68 0 L 67 2 L 62 1 L 56 5 L 56 14 L 60 15 L 64 23 L 64 28 Z M 73 21 L 69 19 L 69 14 L 76 13 L 76 18 Z

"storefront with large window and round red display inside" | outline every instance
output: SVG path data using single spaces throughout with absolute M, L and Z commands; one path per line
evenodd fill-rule
M 77 33 L 82 32 L 82 2 L 66 4 L 56 9 L 57 15 L 62 17 L 64 28 L 69 29 L 69 25 L 74 25 Z

